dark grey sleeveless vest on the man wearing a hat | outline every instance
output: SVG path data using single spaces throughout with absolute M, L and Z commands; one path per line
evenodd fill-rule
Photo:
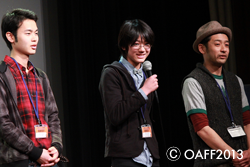
M 241 125 L 243 128 L 240 84 L 237 77 L 233 73 L 223 69 L 222 74 L 230 99 L 234 123 Z M 238 149 L 243 151 L 246 150 L 246 136 L 232 138 L 227 131 L 227 128 L 232 126 L 230 114 L 213 75 L 202 64 L 197 64 L 196 69 L 193 70 L 186 78 L 189 77 L 196 79 L 202 87 L 205 96 L 209 126 L 236 151 Z M 196 153 L 200 151 L 203 154 L 204 150 L 210 150 L 211 148 L 195 133 L 190 118 L 188 118 L 188 125 L 193 140 L 194 151 Z M 212 159 L 209 156 L 207 156 L 207 158 L 203 157 L 203 159 L 197 158 L 194 166 L 212 167 L 231 161 L 230 159 L 224 159 L 223 156 L 220 156 L 222 159 L 219 159 L 220 157 L 218 157 L 219 154 L 216 154 Z

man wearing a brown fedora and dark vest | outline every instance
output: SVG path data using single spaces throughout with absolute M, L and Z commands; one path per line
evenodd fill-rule
M 197 167 L 250 165 L 250 112 L 243 82 L 223 68 L 231 40 L 231 30 L 217 21 L 201 26 L 193 49 L 204 62 L 183 80 Z

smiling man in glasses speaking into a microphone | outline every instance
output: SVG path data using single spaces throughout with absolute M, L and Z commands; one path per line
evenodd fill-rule
M 158 167 L 158 143 L 150 119 L 157 75 L 147 78 L 142 63 L 148 57 L 154 33 L 141 20 L 127 20 L 120 28 L 120 61 L 105 65 L 99 90 L 106 128 L 105 157 L 112 167 Z

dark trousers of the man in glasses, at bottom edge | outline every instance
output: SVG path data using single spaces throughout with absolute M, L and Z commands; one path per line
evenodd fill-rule
M 112 167 L 145 167 L 140 163 L 133 161 L 132 158 L 112 158 L 111 161 Z M 159 160 L 154 159 L 152 167 L 160 167 Z

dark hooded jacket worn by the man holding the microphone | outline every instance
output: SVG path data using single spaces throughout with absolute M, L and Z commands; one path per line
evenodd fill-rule
M 127 69 L 119 62 L 104 66 L 99 90 L 105 116 L 105 157 L 134 158 L 139 156 L 143 151 L 144 143 L 140 129 L 143 124 L 140 108 L 146 104 L 144 116 L 153 129 L 149 115 L 153 93 L 148 95 L 146 101 L 136 89 Z M 152 156 L 159 159 L 154 131 L 153 137 L 145 141 Z

